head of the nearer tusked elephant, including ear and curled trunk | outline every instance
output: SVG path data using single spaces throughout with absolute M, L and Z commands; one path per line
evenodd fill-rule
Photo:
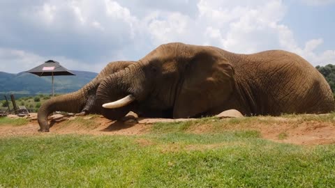
M 221 53 L 214 47 L 161 45 L 101 82 L 96 94 L 103 115 L 119 119 L 150 109 L 187 118 L 223 104 L 234 88 L 234 70 Z

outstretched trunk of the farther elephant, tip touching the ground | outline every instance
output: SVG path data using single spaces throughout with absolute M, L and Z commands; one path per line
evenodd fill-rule
M 40 132 L 49 132 L 49 124 L 47 123 L 47 116 L 54 111 L 67 111 L 79 113 L 84 106 L 84 99 L 82 90 L 52 97 L 42 104 L 38 109 L 38 124 L 40 125 Z

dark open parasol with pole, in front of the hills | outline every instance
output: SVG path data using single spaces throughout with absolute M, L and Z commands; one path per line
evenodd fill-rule
M 27 72 L 38 75 L 38 77 L 52 76 L 52 96 L 54 96 L 54 76 L 75 75 L 66 68 L 62 67 L 59 62 L 53 60 L 45 61 L 42 65 L 32 68 Z

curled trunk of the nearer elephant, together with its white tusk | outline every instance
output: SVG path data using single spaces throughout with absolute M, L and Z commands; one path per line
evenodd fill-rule
M 98 86 L 96 97 L 105 118 L 117 120 L 131 111 L 144 95 L 144 73 L 140 63 L 106 77 Z

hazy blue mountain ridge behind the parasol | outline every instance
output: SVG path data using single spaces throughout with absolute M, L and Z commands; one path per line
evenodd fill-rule
M 77 91 L 98 75 L 96 72 L 77 70 L 71 70 L 71 72 L 75 73 L 75 76 L 54 77 L 54 93 Z M 50 94 L 51 82 L 51 77 L 38 77 L 27 72 L 18 74 L 0 72 L 0 100 L 3 99 L 4 94 L 9 95 L 10 93 L 15 94 L 15 97 L 40 93 Z

